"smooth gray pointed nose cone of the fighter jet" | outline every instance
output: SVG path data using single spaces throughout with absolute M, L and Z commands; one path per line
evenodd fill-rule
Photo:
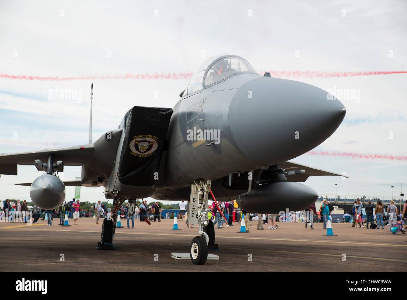
M 325 90 L 293 80 L 258 77 L 233 97 L 229 126 L 247 158 L 271 165 L 318 146 L 335 132 L 345 114 L 343 104 Z

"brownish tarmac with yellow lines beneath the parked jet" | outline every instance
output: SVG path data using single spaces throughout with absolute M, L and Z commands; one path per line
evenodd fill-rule
M 102 222 L 101 219 L 100 222 Z M 173 220 L 147 223 L 135 220 L 135 228 L 116 229 L 118 250 L 97 250 L 101 225 L 93 218 L 80 218 L 70 227 L 24 223 L 0 223 L 0 250 L 7 264 L 0 271 L 407 271 L 407 235 L 385 229 L 352 228 L 333 224 L 337 236 L 323 236 L 321 223 L 314 230 L 304 223 L 278 223 L 278 229 L 256 230 L 252 221 L 249 233 L 237 233 L 239 223 L 215 228 L 219 260 L 193 265 L 190 260 L 175 260 L 171 252 L 188 252 L 197 226 L 171 231 Z M 216 227 L 216 225 L 215 225 Z M 63 254 L 64 261 L 61 261 Z M 344 254 L 346 261 L 344 261 Z M 158 256 L 157 256 L 158 255 Z M 158 257 L 158 261 L 157 260 Z M 250 261 L 249 258 L 252 257 Z M 154 259 L 155 258 L 155 259 Z

